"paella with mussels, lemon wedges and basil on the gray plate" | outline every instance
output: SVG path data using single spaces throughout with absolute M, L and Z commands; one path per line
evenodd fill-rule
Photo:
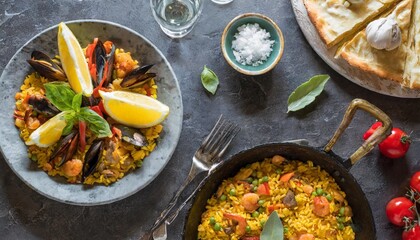
M 60 36 L 64 31 L 67 36 Z M 71 60 L 60 48 L 63 38 Z M 28 157 L 48 175 L 109 185 L 141 167 L 158 144 L 169 108 L 157 100 L 156 73 L 149 71 L 153 65 L 142 65 L 111 41 L 95 38 L 82 49 L 78 43 L 71 46 L 74 40 L 61 23 L 59 56 L 32 52 L 28 63 L 35 72 L 15 94 L 15 126 L 28 145 Z M 72 47 L 81 50 L 81 67 Z M 87 83 L 77 75 L 85 67 Z M 69 68 L 79 71 L 76 80 Z

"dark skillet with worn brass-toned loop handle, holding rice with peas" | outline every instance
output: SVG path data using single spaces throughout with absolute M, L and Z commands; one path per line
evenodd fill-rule
M 331 152 L 339 136 L 350 124 L 357 109 L 365 110 L 374 115 L 383 123 L 383 127 L 374 133 L 349 159 L 344 160 Z M 324 148 L 302 146 L 295 143 L 270 143 L 260 145 L 249 150 L 242 151 L 217 168 L 204 179 L 198 192 L 195 193 L 192 206 L 187 215 L 184 226 L 184 239 L 197 239 L 197 227 L 200 224 L 201 214 L 205 211 L 207 199 L 209 199 L 222 183 L 223 179 L 233 177 L 241 167 L 276 154 L 287 159 L 312 161 L 327 171 L 346 193 L 346 199 L 353 210 L 353 223 L 356 239 L 368 240 L 376 238 L 375 224 L 369 202 L 366 199 L 360 185 L 349 173 L 351 166 L 362 158 L 373 147 L 390 134 L 392 123 L 389 117 L 377 107 L 362 99 L 355 99 L 348 107 L 343 121 Z

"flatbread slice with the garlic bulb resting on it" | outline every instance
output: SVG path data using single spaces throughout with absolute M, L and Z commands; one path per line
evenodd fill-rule
M 394 50 L 378 50 L 370 46 L 366 39 L 366 29 L 359 32 L 339 50 L 340 55 L 350 65 L 363 71 L 372 72 L 382 78 L 397 81 L 404 85 L 404 69 L 409 50 L 409 32 L 414 0 L 403 0 L 393 9 L 396 22 L 401 30 L 402 42 Z M 386 17 L 386 16 L 383 16 Z

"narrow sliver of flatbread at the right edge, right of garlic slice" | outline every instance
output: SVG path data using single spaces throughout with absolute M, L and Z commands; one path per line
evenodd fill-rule
M 404 68 L 404 85 L 409 88 L 420 88 L 420 1 L 413 7 L 410 38 L 408 40 L 407 59 Z

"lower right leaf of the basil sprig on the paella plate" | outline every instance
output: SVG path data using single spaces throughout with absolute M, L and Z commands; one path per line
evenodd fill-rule
M 79 112 L 79 119 L 87 123 L 87 127 L 98 137 L 109 137 L 112 135 L 108 122 L 95 111 L 82 107 Z

